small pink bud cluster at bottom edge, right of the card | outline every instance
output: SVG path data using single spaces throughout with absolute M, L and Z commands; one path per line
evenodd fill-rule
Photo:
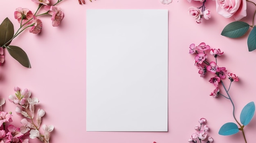
M 208 134 L 206 133 L 207 131 L 209 131 L 209 127 L 207 125 L 204 125 L 202 129 L 202 125 L 206 123 L 206 119 L 201 118 L 198 122 L 200 123 L 200 126 L 195 126 L 194 129 L 196 130 L 196 132 L 191 135 L 189 142 L 196 143 L 198 139 L 200 140 L 200 143 L 201 141 L 207 141 L 207 143 L 213 142 L 213 138 L 211 136 L 208 136 Z

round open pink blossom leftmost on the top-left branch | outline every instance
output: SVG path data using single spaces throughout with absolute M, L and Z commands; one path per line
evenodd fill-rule
M 14 11 L 14 18 L 18 20 L 18 22 L 21 24 L 31 24 L 33 19 L 33 13 L 29 11 L 29 9 L 25 8 L 17 8 L 16 11 Z

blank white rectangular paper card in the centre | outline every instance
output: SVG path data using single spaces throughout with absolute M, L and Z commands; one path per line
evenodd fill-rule
M 167 131 L 168 10 L 86 17 L 86 130 Z

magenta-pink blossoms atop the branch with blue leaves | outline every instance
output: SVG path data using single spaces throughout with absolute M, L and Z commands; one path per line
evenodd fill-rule
M 231 82 L 239 81 L 238 77 L 235 74 L 229 73 L 227 72 L 225 67 L 219 67 L 217 65 L 217 57 L 223 55 L 223 52 L 221 52 L 219 48 L 211 48 L 204 42 L 200 43 L 198 46 L 195 46 L 195 44 L 191 44 L 189 48 L 189 53 L 196 53 L 195 66 L 197 66 L 199 69 L 198 73 L 200 74 L 200 77 L 204 77 L 207 72 L 215 74 L 215 76 L 211 77 L 211 79 L 209 80 L 209 82 L 215 86 L 215 89 L 210 94 L 212 97 L 218 97 L 220 93 L 218 85 L 220 82 L 222 82 L 222 79 L 226 78 L 226 75 L 229 77 Z M 213 55 L 213 57 L 216 59 L 215 62 L 207 62 L 207 51 L 209 51 L 210 55 Z

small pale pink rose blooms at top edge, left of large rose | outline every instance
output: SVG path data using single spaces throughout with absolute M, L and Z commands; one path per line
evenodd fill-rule
M 189 2 L 191 2 L 191 0 L 188 0 Z M 201 7 L 189 7 L 188 9 L 188 13 L 189 15 L 191 15 L 195 21 L 200 24 L 202 22 L 203 19 L 209 20 L 209 18 L 211 18 L 211 14 L 210 14 L 210 10 L 209 9 L 205 9 L 205 2 L 206 0 L 193 0 L 193 1 L 198 1 L 202 3 Z

